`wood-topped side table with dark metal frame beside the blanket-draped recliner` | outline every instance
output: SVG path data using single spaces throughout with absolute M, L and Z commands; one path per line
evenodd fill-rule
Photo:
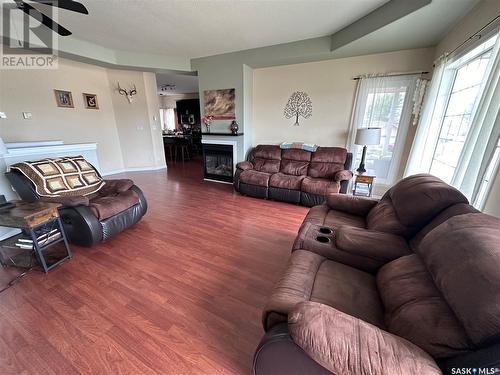
M 23 233 L 0 242 L 0 247 L 12 248 L 20 238 L 29 236 L 33 243 L 33 250 L 45 273 L 62 262 L 71 259 L 71 250 L 66 234 L 64 233 L 59 212 L 57 211 L 57 208 L 61 206 L 59 203 L 40 201 L 31 203 L 13 201 L 13 203 L 16 204 L 16 207 L 0 211 L 0 226 L 19 228 L 23 230 Z M 57 238 L 51 241 L 49 233 L 53 230 L 57 230 L 60 236 L 55 236 Z M 40 241 L 39 238 L 43 233 L 47 234 L 47 240 Z M 48 265 L 44 256 L 45 251 L 52 245 L 60 242 L 64 242 L 65 256 L 55 263 Z

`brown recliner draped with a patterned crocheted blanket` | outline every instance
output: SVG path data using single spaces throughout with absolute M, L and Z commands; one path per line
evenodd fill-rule
M 22 200 L 60 203 L 64 231 L 77 245 L 107 241 L 147 211 L 132 180 L 104 180 L 81 156 L 17 163 L 5 175 Z

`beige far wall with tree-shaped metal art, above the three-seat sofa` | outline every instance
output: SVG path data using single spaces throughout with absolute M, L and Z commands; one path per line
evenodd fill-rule
M 356 88 L 352 78 L 365 73 L 429 71 L 433 56 L 433 48 L 423 48 L 254 69 L 253 144 L 305 141 L 344 146 Z M 311 97 L 313 115 L 293 126 L 294 119 L 286 119 L 283 109 L 298 90 Z

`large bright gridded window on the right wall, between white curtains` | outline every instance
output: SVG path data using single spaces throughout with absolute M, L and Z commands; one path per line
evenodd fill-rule
M 492 37 L 450 65 L 451 80 L 446 109 L 431 161 L 430 173 L 451 183 L 471 122 L 488 77 L 496 38 Z

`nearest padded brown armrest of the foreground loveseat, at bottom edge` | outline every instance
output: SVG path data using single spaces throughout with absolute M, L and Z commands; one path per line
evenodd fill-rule
M 410 341 L 327 305 L 299 303 L 288 329 L 298 346 L 334 374 L 441 374 Z

